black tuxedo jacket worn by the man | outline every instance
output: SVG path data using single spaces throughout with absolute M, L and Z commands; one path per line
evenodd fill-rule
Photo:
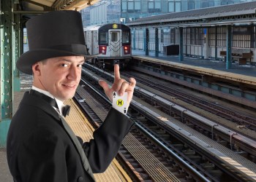
M 102 173 L 116 156 L 133 122 L 111 108 L 94 139 L 80 141 L 93 173 Z M 94 181 L 78 149 L 49 103 L 26 92 L 7 135 L 7 160 L 14 181 Z

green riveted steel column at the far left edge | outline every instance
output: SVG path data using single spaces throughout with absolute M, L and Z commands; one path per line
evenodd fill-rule
M 1 120 L 0 147 L 7 143 L 12 118 L 12 1 L 1 1 Z

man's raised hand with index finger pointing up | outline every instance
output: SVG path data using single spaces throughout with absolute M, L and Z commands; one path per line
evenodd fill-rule
M 127 96 L 127 107 L 129 106 L 129 103 L 132 100 L 133 91 L 135 89 L 136 80 L 134 78 L 129 78 L 129 82 L 127 82 L 124 79 L 120 78 L 120 72 L 119 72 L 119 65 L 114 65 L 114 74 L 115 79 L 112 87 L 108 87 L 107 82 L 103 80 L 99 80 L 99 85 L 103 88 L 105 91 L 105 94 L 110 98 L 111 102 L 113 100 L 113 92 L 118 92 L 118 95 L 123 95 L 124 92 L 128 93 Z

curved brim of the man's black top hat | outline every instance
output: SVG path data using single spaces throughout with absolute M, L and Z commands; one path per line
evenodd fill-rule
M 94 58 L 97 55 L 87 55 L 87 52 L 69 52 L 65 50 L 53 50 L 53 49 L 39 49 L 31 50 L 20 55 L 17 60 L 17 68 L 25 74 L 33 74 L 32 66 L 40 60 L 46 60 L 49 58 L 57 58 L 63 56 L 83 56 L 86 60 Z

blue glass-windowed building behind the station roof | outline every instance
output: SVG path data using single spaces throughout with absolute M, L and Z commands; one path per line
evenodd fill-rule
M 101 0 L 81 10 L 83 24 L 129 23 L 140 17 L 253 0 Z

